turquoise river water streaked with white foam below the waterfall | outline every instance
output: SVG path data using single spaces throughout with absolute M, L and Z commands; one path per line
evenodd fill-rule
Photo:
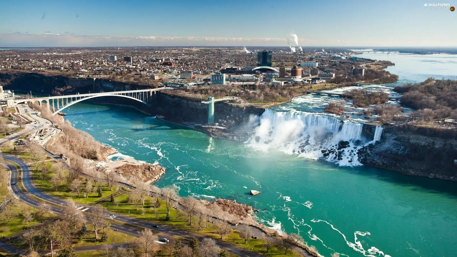
M 157 182 L 159 187 L 174 184 L 181 196 L 207 200 L 221 197 L 252 205 L 260 210 L 256 214 L 259 222 L 299 233 L 322 256 L 329 257 L 333 252 L 351 257 L 457 256 L 456 183 L 407 177 L 356 166 L 351 161 L 335 163 L 320 160 L 319 156 L 314 160 L 313 156 L 291 152 L 303 133 L 312 136 L 319 130 L 331 131 L 333 123 L 329 121 L 320 122 L 321 127 L 313 123 L 317 129 L 311 132 L 306 128 L 310 124 L 306 117 L 280 117 L 270 111 L 260 127 L 268 127 L 269 121 L 275 122 L 276 129 L 292 127 L 301 132 L 297 142 L 282 144 L 281 133 L 275 137 L 274 131 L 272 144 L 265 148 L 253 140 L 243 143 L 213 139 L 130 107 L 81 102 L 64 112 L 75 128 L 117 148 L 119 154 L 113 158 L 129 155 L 165 166 L 167 171 Z M 341 129 L 345 132 L 335 134 L 342 138 L 359 136 L 356 125 L 346 125 Z M 264 132 L 256 134 L 263 140 L 268 136 Z M 310 152 L 305 149 L 305 154 Z M 347 155 L 345 161 L 351 160 L 350 153 Z M 261 193 L 251 196 L 251 189 Z

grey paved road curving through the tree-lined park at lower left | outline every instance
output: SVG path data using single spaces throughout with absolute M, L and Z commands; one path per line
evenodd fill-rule
M 51 197 L 43 192 L 40 192 L 39 190 L 37 190 L 37 188 L 33 187 L 33 183 L 30 180 L 30 170 L 28 169 L 27 165 L 21 159 L 18 159 L 16 157 L 13 157 L 10 155 L 5 155 L 5 154 L 3 155 L 3 157 L 6 160 L 10 160 L 10 161 L 17 163 L 21 167 L 22 184 L 24 185 L 24 187 L 27 189 L 27 191 L 30 194 L 36 196 L 37 198 L 41 198 L 41 199 L 46 200 L 51 203 L 56 203 L 59 205 L 65 204 L 65 202 L 63 200 Z M 11 170 L 11 185 L 12 185 L 13 183 L 17 182 L 17 172 L 18 171 L 16 169 L 16 166 L 14 166 L 10 163 L 7 163 L 7 165 L 8 165 L 8 168 Z M 27 204 L 30 204 L 31 206 L 36 206 L 36 207 L 41 204 L 40 202 L 28 197 L 27 194 L 22 192 L 21 189 L 17 185 L 16 186 L 13 185 L 13 186 L 11 186 L 11 188 L 12 188 L 13 192 L 22 201 L 26 202 Z M 78 204 L 78 205 L 80 205 L 79 208 L 81 211 L 90 213 L 89 205 L 85 205 L 85 204 Z M 62 213 L 62 209 L 54 207 L 54 206 L 51 207 L 51 210 L 56 214 Z M 149 228 L 152 230 L 159 231 L 159 232 L 161 232 L 161 235 L 159 235 L 159 239 L 163 239 L 163 238 L 170 239 L 171 236 L 180 236 L 180 237 L 188 238 L 188 239 L 190 239 L 192 237 L 197 237 L 199 239 L 205 238 L 205 236 L 202 236 L 197 233 L 189 232 L 187 230 L 178 230 L 178 229 L 174 229 L 174 228 L 171 228 L 168 226 L 154 224 L 152 222 L 148 222 L 148 221 L 141 220 L 141 219 L 136 219 L 136 218 L 133 218 L 130 216 L 122 215 L 122 214 L 113 213 L 110 211 L 108 211 L 107 214 L 108 214 L 109 218 L 112 220 L 117 220 L 117 221 L 121 221 L 121 222 L 130 224 L 130 225 L 141 226 L 143 228 Z M 158 227 L 156 228 L 154 226 L 158 226 Z M 132 235 L 132 236 L 138 236 L 141 233 L 141 230 L 138 230 L 138 229 L 126 226 L 126 225 L 115 224 L 115 223 L 112 224 L 111 229 L 128 234 L 128 235 Z M 225 243 L 220 240 L 217 240 L 216 242 L 221 249 L 227 250 L 228 252 L 233 253 L 235 255 L 238 255 L 241 257 L 261 257 L 260 254 L 257 254 L 255 252 L 250 252 L 250 251 L 245 250 L 236 245 Z M 183 242 L 183 244 L 186 244 L 186 243 Z

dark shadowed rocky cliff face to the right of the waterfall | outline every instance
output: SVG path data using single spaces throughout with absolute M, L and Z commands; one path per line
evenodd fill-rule
M 385 128 L 381 143 L 359 151 L 361 163 L 405 175 L 457 181 L 457 140 L 449 134 L 425 132 Z

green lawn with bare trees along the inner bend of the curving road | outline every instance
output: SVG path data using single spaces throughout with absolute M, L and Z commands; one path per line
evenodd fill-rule
M 73 199 L 74 202 L 76 203 L 93 203 L 97 200 L 100 200 L 101 198 L 110 196 L 112 193 L 116 193 L 115 188 L 113 187 L 113 191 L 110 191 L 109 187 L 106 186 L 106 183 L 102 183 L 102 197 L 98 197 L 98 193 L 90 193 L 87 199 L 84 198 L 84 194 L 80 193 L 80 196 L 78 196 L 78 193 L 70 192 L 70 189 L 68 187 L 67 183 L 67 177 L 68 177 L 68 171 L 66 171 L 64 178 L 62 179 L 62 183 L 59 183 L 57 186 L 57 191 L 54 185 L 51 183 L 51 177 L 53 177 L 54 173 L 52 172 L 52 166 L 53 162 L 48 161 L 47 165 L 49 167 L 49 173 L 42 178 L 41 176 L 41 171 L 32 171 L 32 177 L 33 181 L 39 187 L 41 190 L 44 192 L 53 195 L 58 198 L 64 198 L 64 199 Z M 85 178 L 83 177 L 83 182 L 85 182 Z M 100 186 L 101 183 L 97 183 L 97 186 Z M 83 185 L 84 187 L 85 185 Z M 87 202 L 86 202 L 87 201 Z

